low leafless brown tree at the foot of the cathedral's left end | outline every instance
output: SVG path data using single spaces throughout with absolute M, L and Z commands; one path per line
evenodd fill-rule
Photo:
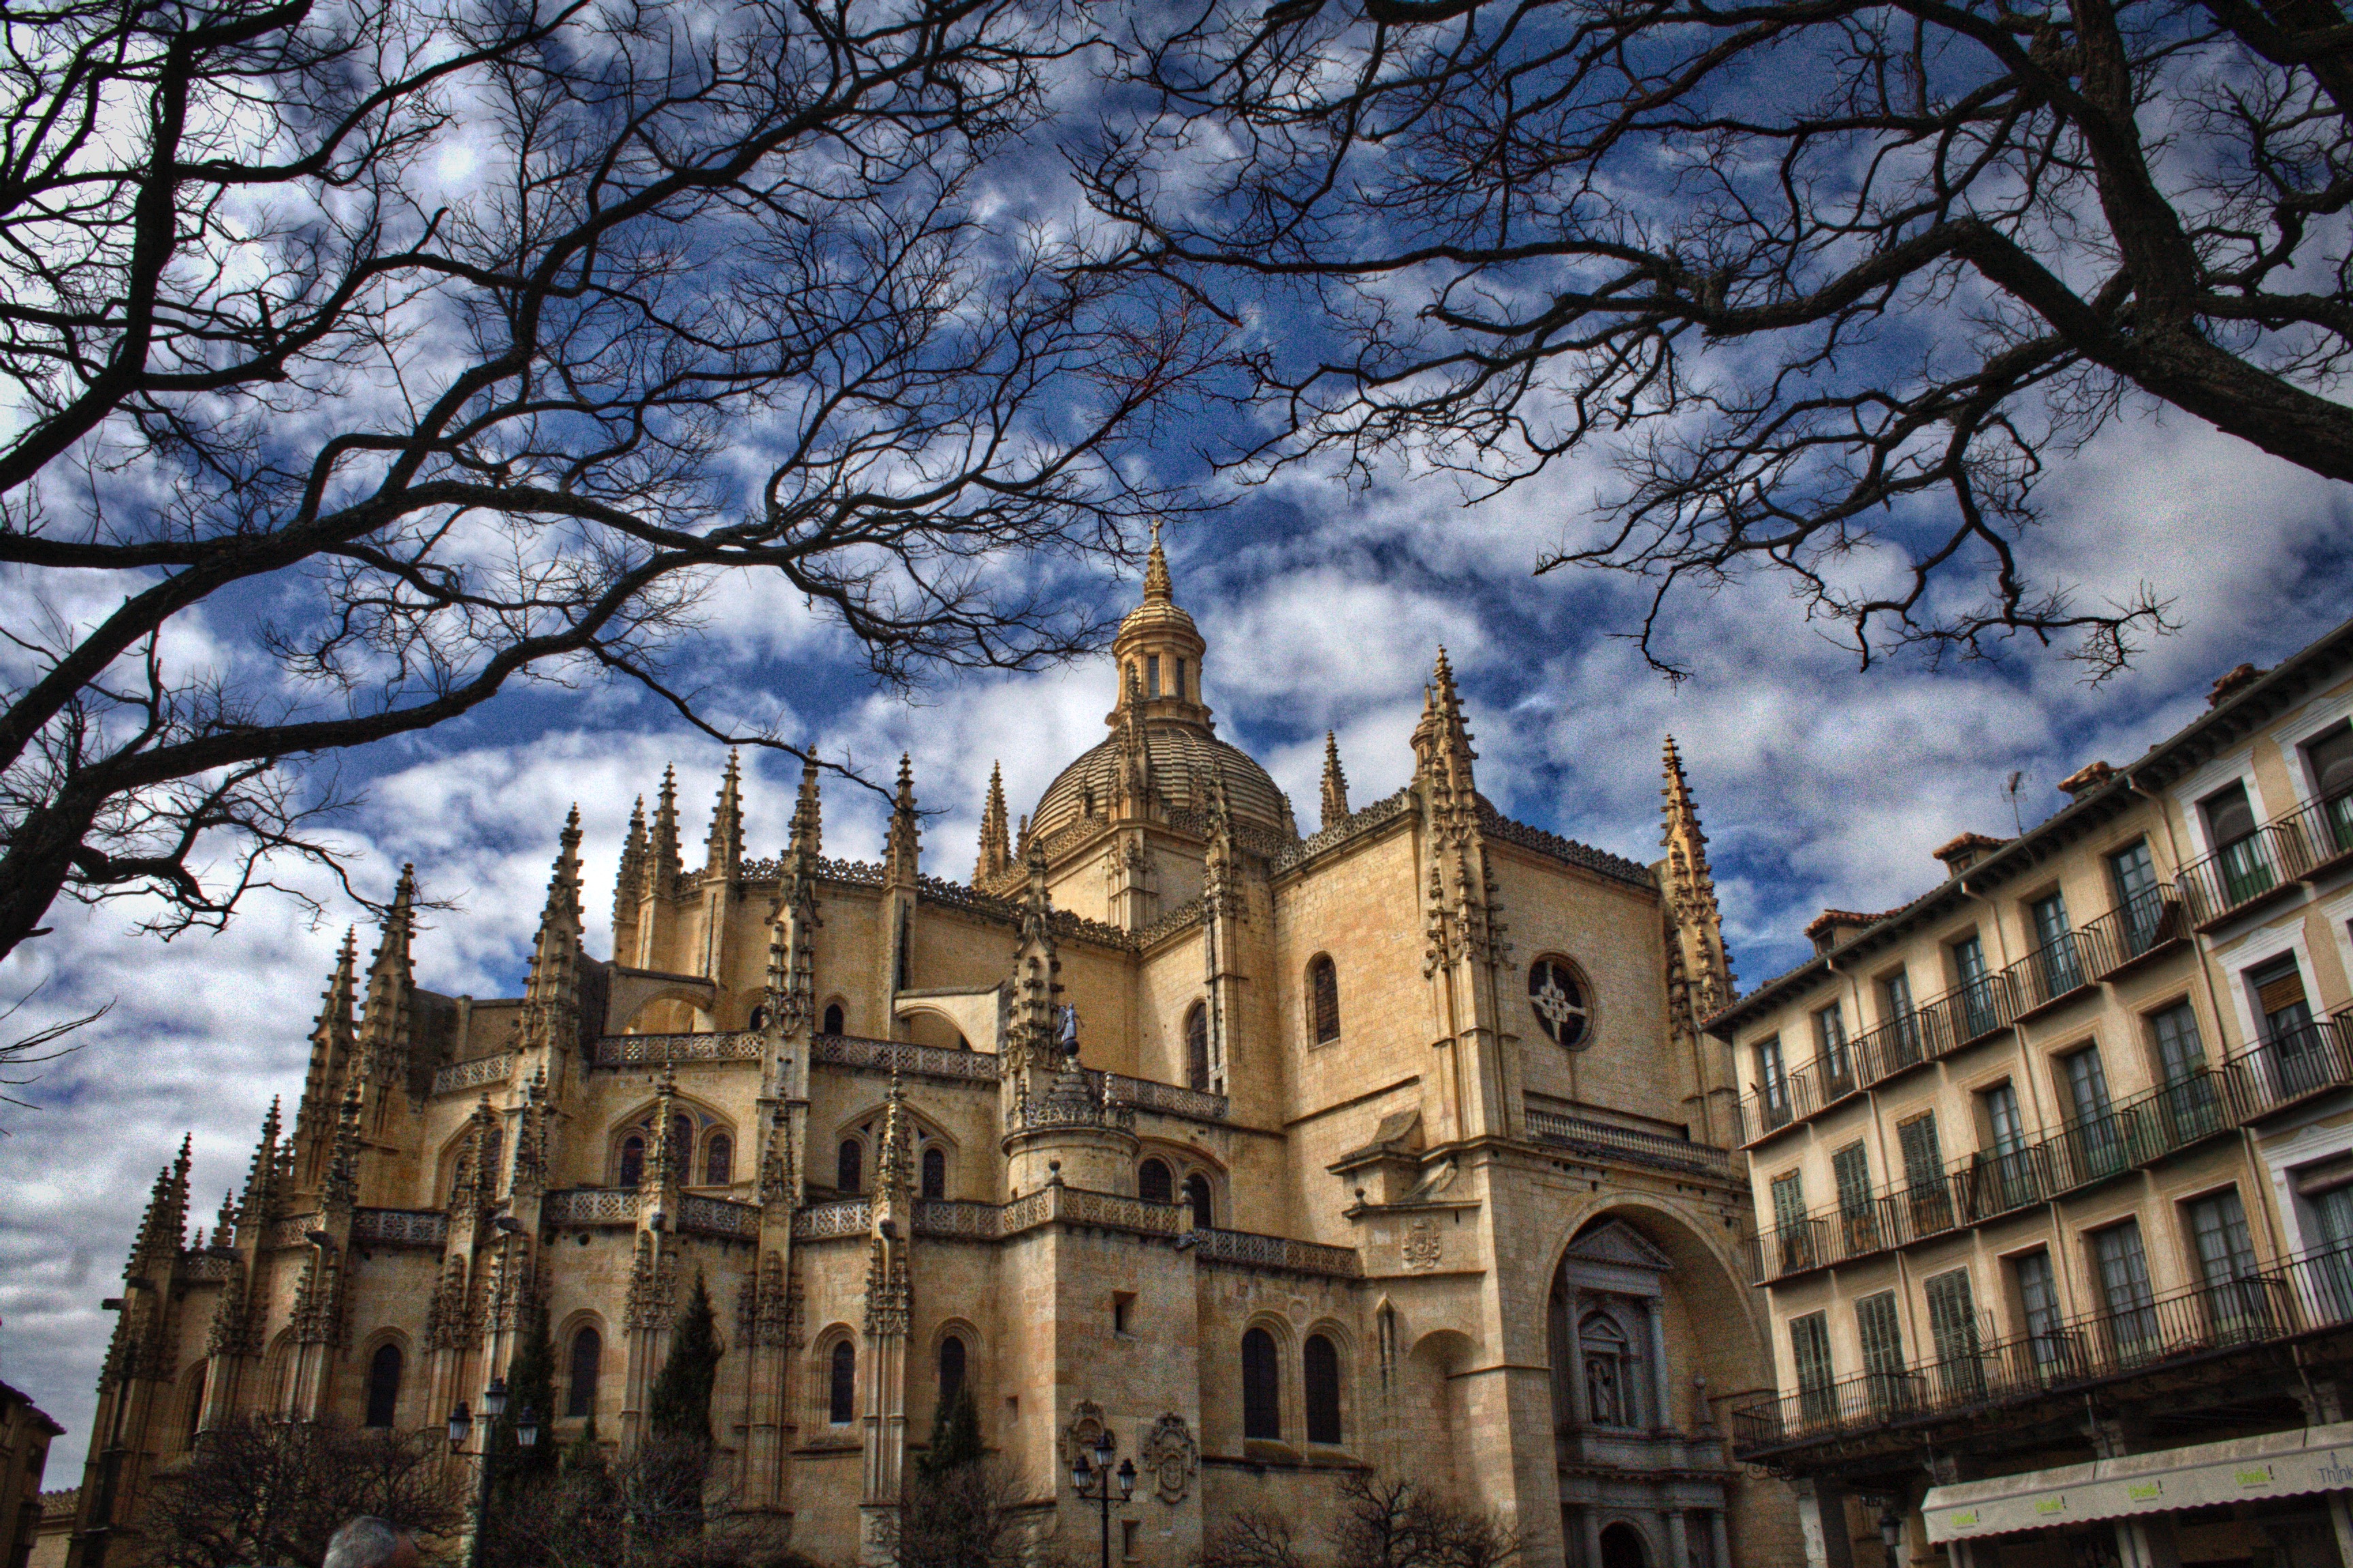
M 264 1418 L 214 1427 L 155 1486 L 144 1528 L 165 1568 L 315 1563 L 358 1514 L 424 1540 L 464 1528 L 466 1486 L 440 1434 Z

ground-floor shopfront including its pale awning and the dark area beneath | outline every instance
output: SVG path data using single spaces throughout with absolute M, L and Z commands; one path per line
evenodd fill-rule
M 1937 1486 L 1953 1568 L 2353 1568 L 2353 1422 Z

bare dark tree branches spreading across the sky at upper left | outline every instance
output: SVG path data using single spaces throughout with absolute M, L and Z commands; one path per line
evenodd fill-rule
M 1061 0 L 59 0 L 0 19 L 0 957 L 216 926 L 341 750 L 640 682 L 720 574 L 887 682 L 1099 625 L 1214 322 L 984 221 Z

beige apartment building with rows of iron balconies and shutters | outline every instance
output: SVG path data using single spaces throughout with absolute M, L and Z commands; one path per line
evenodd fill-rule
M 2353 623 L 1718 1013 L 1821 1568 L 2353 1563 Z

